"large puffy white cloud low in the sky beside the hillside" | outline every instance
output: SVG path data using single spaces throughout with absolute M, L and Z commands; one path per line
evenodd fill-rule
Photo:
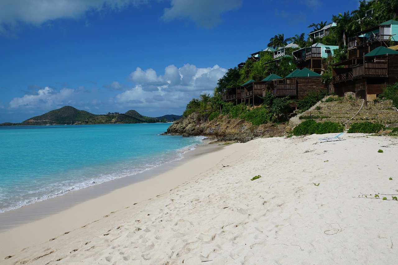
M 113 103 L 126 109 L 146 109 L 149 113 L 182 113 L 193 97 L 212 94 L 225 73 L 226 69 L 218 65 L 207 68 L 197 68 L 193 64 L 180 68 L 169 65 L 163 75 L 153 69 L 137 67 L 129 75 L 135 86 L 116 95 Z

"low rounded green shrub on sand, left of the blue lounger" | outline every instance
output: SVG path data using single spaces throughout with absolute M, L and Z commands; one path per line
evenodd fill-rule
M 331 121 L 325 121 L 323 123 L 317 123 L 314 120 L 306 120 L 297 125 L 293 129 L 294 135 L 306 135 L 306 134 L 324 134 L 324 133 L 341 133 L 344 130 L 344 126 L 339 123 Z

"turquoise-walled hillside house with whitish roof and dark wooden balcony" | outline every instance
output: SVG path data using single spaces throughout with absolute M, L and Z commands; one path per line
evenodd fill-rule
M 339 49 L 339 47 L 315 43 L 311 45 L 311 47 L 305 47 L 294 51 L 292 53 L 293 61 L 300 69 L 305 67 L 320 74 L 325 68 L 325 58 L 333 56 L 335 49 Z

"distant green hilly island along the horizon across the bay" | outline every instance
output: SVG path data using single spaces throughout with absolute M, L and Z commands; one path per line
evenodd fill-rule
M 13 125 L 62 125 L 62 124 L 113 124 L 113 123 L 160 123 L 171 122 L 181 118 L 182 115 L 164 115 L 161 117 L 143 116 L 135 110 L 126 113 L 108 112 L 103 115 L 93 114 L 88 111 L 78 110 L 71 106 L 64 106 L 35 116 L 21 123 L 1 123 L 0 126 Z

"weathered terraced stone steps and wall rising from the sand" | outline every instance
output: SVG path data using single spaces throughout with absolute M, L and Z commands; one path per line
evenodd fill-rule
M 348 129 L 352 123 L 361 121 L 370 121 L 385 125 L 398 123 L 398 111 L 390 100 L 368 101 L 367 107 L 365 107 L 363 99 L 355 99 L 353 93 L 346 93 L 343 99 L 337 96 L 329 97 L 340 100 L 323 102 L 326 98 L 322 99 L 322 101 L 316 103 L 316 105 L 308 111 L 297 115 L 297 118 L 293 117 L 296 118 L 293 121 L 295 125 L 305 121 L 305 119 L 300 120 L 300 116 L 313 116 L 313 119 L 317 122 L 333 121 L 342 123 L 345 125 L 346 129 Z M 359 111 L 359 109 L 361 110 Z

